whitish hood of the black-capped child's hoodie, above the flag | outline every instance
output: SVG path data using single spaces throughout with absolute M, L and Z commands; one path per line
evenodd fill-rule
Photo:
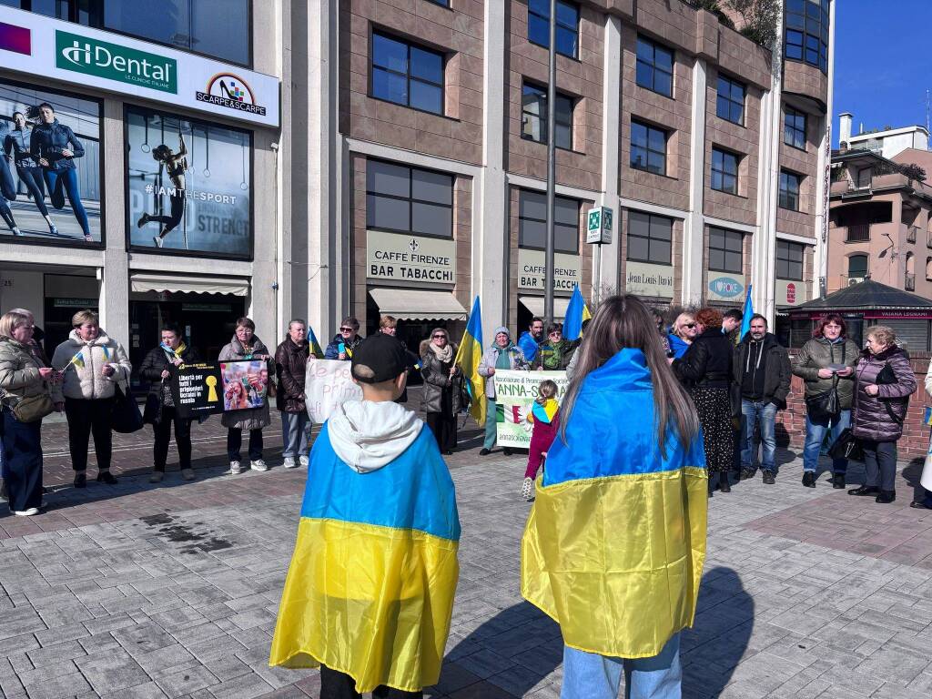
M 327 422 L 336 456 L 357 473 L 377 471 L 412 445 L 424 421 L 397 403 L 349 401 Z

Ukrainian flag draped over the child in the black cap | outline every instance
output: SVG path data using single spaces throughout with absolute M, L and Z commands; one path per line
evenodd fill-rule
M 453 481 L 430 430 L 386 466 L 357 473 L 336 456 L 328 427 L 311 450 L 268 664 L 327 665 L 357 692 L 416 692 L 440 677 L 453 611 Z

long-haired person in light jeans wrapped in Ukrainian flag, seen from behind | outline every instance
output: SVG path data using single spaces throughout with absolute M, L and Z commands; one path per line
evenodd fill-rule
M 521 594 L 560 625 L 563 699 L 681 695 L 706 556 L 695 408 L 632 295 L 602 302 L 521 545 Z

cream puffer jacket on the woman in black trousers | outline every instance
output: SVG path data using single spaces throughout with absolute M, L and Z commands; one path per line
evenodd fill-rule
M 78 352 L 81 353 L 81 362 L 73 363 L 72 358 Z M 115 369 L 109 377 L 103 376 L 104 364 L 110 364 Z M 52 387 L 52 400 L 55 403 L 62 403 L 64 398 L 112 398 L 117 383 L 126 386 L 132 371 L 126 349 L 117 340 L 107 336 L 103 328 L 92 342 L 85 342 L 78 336 L 77 330 L 72 330 L 68 339 L 55 348 L 52 366 L 65 370 L 63 382 Z

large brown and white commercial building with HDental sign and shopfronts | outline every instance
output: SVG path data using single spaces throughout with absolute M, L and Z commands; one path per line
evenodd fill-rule
M 26 235 L 0 229 L 0 305 L 41 309 L 50 336 L 94 301 L 138 352 L 170 318 L 210 355 L 242 313 L 268 344 L 291 317 L 323 342 L 344 315 L 371 332 L 390 313 L 414 346 L 459 335 L 476 295 L 487 336 L 517 329 L 543 308 L 551 136 L 556 315 L 577 284 L 723 308 L 751 286 L 772 320 L 818 293 L 829 0 L 787 0 L 773 50 L 691 2 L 560 0 L 554 134 L 544 0 L 169 4 L 0 6 L 0 120 L 53 103 L 85 145 L 89 242 L 58 180 L 49 235 L 15 167 Z

